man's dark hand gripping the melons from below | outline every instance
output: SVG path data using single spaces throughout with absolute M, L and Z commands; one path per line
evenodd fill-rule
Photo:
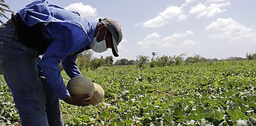
M 67 97 L 65 99 L 63 99 L 63 101 L 65 101 L 67 104 L 72 104 L 74 106 L 88 106 L 89 105 L 89 100 L 84 101 L 83 99 L 89 97 L 88 95 L 75 95 L 75 96 L 70 96 Z

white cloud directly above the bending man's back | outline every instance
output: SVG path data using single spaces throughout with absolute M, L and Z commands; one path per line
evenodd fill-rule
M 69 11 L 76 11 L 79 12 L 79 14 L 82 17 L 87 17 L 87 16 L 97 16 L 97 10 L 96 8 L 91 7 L 90 5 L 83 5 L 83 3 L 72 3 L 66 7 L 64 7 L 65 10 Z

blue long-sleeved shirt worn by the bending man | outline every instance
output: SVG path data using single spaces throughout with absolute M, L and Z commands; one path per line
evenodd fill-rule
M 19 10 L 18 15 L 29 26 L 38 22 L 44 23 L 44 35 L 51 40 L 51 44 L 38 66 L 59 98 L 65 99 L 70 94 L 63 84 L 59 63 L 61 61 L 70 78 L 82 76 L 75 62 L 77 55 L 69 54 L 89 45 L 94 37 L 96 22 L 89 22 L 76 12 L 51 5 L 46 0 L 33 1 L 23 10 Z

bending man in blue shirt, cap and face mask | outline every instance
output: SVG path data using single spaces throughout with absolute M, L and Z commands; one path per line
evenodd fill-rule
M 70 96 L 59 63 L 70 78 L 82 76 L 75 63 L 83 50 L 118 57 L 122 40 L 119 23 L 111 19 L 89 22 L 46 0 L 36 0 L 12 14 L 0 27 L 0 68 L 10 87 L 23 126 L 63 125 L 59 99 L 87 106 L 88 96 Z M 44 54 L 42 59 L 40 55 Z

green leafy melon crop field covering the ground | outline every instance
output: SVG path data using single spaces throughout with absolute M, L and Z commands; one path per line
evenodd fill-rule
M 82 73 L 102 86 L 104 101 L 86 107 L 61 101 L 65 125 L 256 125 L 256 61 L 114 66 Z M 14 125 L 17 110 L 0 79 L 0 125 Z

